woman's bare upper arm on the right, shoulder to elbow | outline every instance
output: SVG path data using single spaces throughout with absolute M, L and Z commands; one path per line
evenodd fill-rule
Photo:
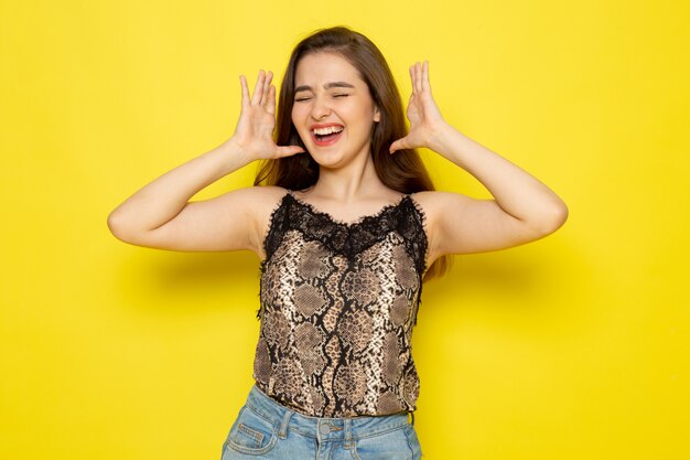
M 495 200 L 476 200 L 457 193 L 422 192 L 420 204 L 428 218 L 430 259 L 450 254 L 505 249 L 546 236 L 505 212 Z

